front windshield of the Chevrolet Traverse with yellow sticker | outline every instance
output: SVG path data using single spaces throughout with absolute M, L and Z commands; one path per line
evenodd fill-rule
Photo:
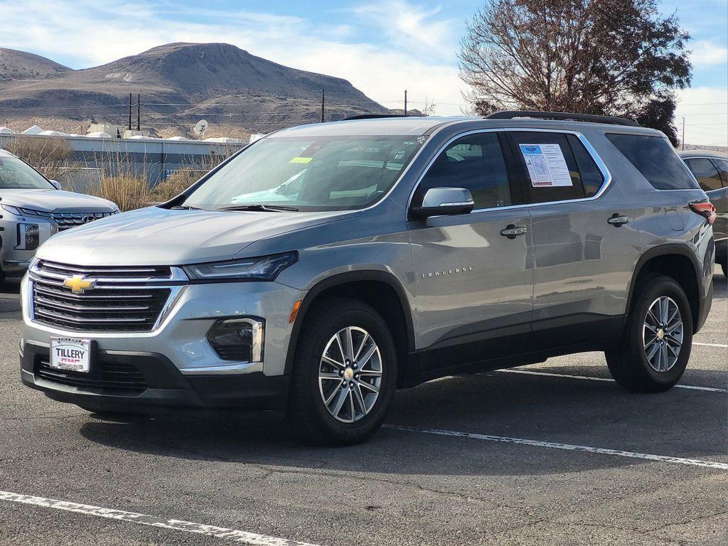
M 213 174 L 181 206 L 367 207 L 389 191 L 422 141 L 411 136 L 266 138 Z

